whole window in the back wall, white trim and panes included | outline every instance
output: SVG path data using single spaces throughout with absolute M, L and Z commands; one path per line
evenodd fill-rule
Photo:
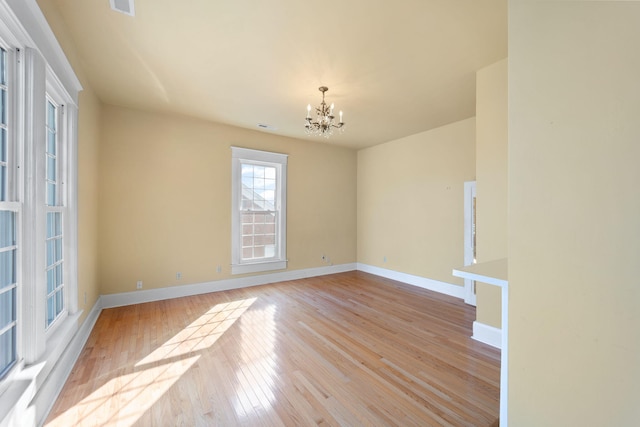
M 287 155 L 231 150 L 231 273 L 285 269 Z

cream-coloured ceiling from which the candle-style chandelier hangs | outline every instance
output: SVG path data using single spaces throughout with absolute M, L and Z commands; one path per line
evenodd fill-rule
M 325 85 L 327 142 L 352 148 L 473 116 L 475 71 L 507 56 L 506 0 L 52 1 L 105 103 L 317 140 Z

